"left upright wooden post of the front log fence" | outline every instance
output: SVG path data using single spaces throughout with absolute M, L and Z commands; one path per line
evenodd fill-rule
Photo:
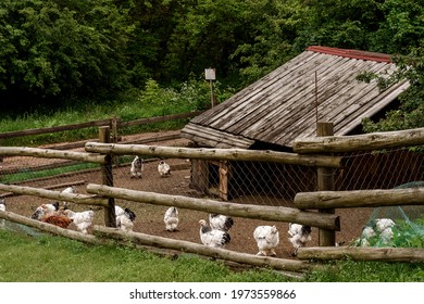
M 109 126 L 99 127 L 99 141 L 110 143 L 111 128 Z M 105 186 L 113 187 L 112 155 L 105 155 L 105 163 L 101 165 L 101 179 Z M 108 206 L 104 207 L 104 226 L 116 227 L 115 200 L 108 199 Z

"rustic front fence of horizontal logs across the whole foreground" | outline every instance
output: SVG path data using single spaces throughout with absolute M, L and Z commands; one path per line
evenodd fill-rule
M 411 140 L 413 137 L 413 140 Z M 396 139 L 395 139 L 396 138 Z M 100 140 L 101 141 L 101 140 Z M 374 141 L 378 141 L 376 144 Z M 349 142 L 349 143 L 341 143 Z M 367 143 L 366 143 L 367 142 Z M 387 145 L 385 144 L 387 143 Z M 321 145 L 319 144 L 321 143 Z M 83 154 L 54 154 L 52 151 L 45 149 L 42 151 L 30 148 L 4 148 L 0 147 L 0 155 L 24 155 L 25 153 L 33 156 L 49 155 L 63 159 L 75 159 L 83 161 L 92 161 L 102 164 L 104 170 L 111 170 L 111 159 L 115 155 L 150 155 L 158 157 L 176 157 L 176 159 L 191 159 L 191 160 L 232 160 L 232 161 L 258 161 L 258 162 L 277 162 L 283 164 L 299 164 L 304 166 L 313 166 L 316 168 L 334 168 L 339 167 L 341 159 L 333 156 L 331 153 L 335 151 L 358 151 L 358 149 L 385 149 L 388 147 L 406 147 L 406 145 L 421 145 L 424 143 L 424 128 L 414 130 L 403 130 L 387 134 L 371 134 L 358 137 L 323 137 L 304 141 L 297 141 L 294 144 L 295 151 L 299 153 L 284 153 L 275 151 L 247 151 L 240 149 L 189 149 L 189 148 L 171 148 L 171 147 L 155 147 L 142 144 L 119 144 L 119 143 L 99 143 L 87 142 L 85 144 L 86 152 Z M 317 147 L 317 148 L 311 148 Z M 324 147 L 324 149 L 323 149 Z M 337 148 L 336 148 L 337 147 Z M 339 148 L 344 147 L 344 148 Z M 326 148 L 326 149 L 325 149 Z M 58 151 L 55 151 L 58 152 Z M 301 153 L 305 154 L 301 154 Z M 320 154 L 311 154 L 320 153 Z M 108 165 L 109 162 L 109 165 Z M 111 173 L 102 172 L 103 175 Z M 367 207 L 413 204 L 424 205 L 424 189 L 397 189 L 397 190 L 364 190 L 364 191 L 317 191 L 298 193 L 295 198 L 297 207 L 274 207 L 274 206 L 258 206 L 258 205 L 238 205 L 235 203 L 192 199 L 187 197 L 165 195 L 152 192 L 144 192 L 136 190 L 128 190 L 113 187 L 113 182 L 103 182 L 103 185 L 89 183 L 87 192 L 90 195 L 82 194 L 64 194 L 57 191 L 34 189 L 29 187 L 18 187 L 0 185 L 1 191 L 11 191 L 20 194 L 40 195 L 43 198 L 55 198 L 60 200 L 72 201 L 75 203 L 98 204 L 105 207 L 105 226 L 95 227 L 95 232 L 99 236 L 109 236 L 110 238 L 120 240 L 132 240 L 136 243 L 146 245 L 155 245 L 171 250 L 183 250 L 188 252 L 197 252 L 202 255 L 213 256 L 223 259 L 230 259 L 238 263 L 247 263 L 252 265 L 269 265 L 284 270 L 299 270 L 310 269 L 313 267 L 308 262 L 261 257 L 250 254 L 234 253 L 224 249 L 211 249 L 199 244 L 189 242 L 180 242 L 153 236 L 147 236 L 137 232 L 121 232 L 113 229 L 115 226 L 113 200 L 124 199 L 135 202 L 142 202 L 158 205 L 174 205 L 183 208 L 191 208 L 198 211 L 205 211 L 211 213 L 222 213 L 233 216 L 240 216 L 246 218 L 260 218 L 277 221 L 296 221 L 303 225 L 319 227 L 324 231 L 340 230 L 340 221 L 338 216 L 326 210 L 334 210 L 336 207 Z M 357 197 L 353 197 L 357 195 Z M 396 197 L 396 200 L 392 199 Z M 361 198 L 361 201 L 371 203 L 358 202 L 354 198 Z M 401 202 L 401 203 L 399 203 Z M 322 211 L 321 213 L 310 212 L 305 210 Z M 0 212 L 0 218 L 11 220 L 21 220 L 10 215 L 10 213 Z M 25 223 L 28 224 L 27 219 Z M 28 224 L 29 225 L 29 224 Z M 35 225 L 35 224 L 34 224 Z M 47 224 L 43 224 L 47 225 Z M 54 231 L 61 231 L 60 228 L 54 228 Z M 331 239 L 331 238 L 329 238 Z M 92 241 L 90 239 L 90 241 Z M 328 239 L 326 240 L 328 241 Z M 321 244 L 321 243 L 320 243 Z M 346 249 L 346 248 L 328 248 L 321 244 L 322 248 L 300 249 L 298 252 L 299 258 L 342 258 L 351 256 L 361 259 L 378 259 L 378 261 L 424 261 L 424 250 L 422 249 Z M 332 243 L 334 245 L 334 242 Z M 328 252 L 326 255 L 325 252 Z M 300 263 L 298 263 L 300 262 Z

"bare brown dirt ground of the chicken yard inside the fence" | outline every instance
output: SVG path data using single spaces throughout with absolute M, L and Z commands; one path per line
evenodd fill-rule
M 166 132 L 170 134 L 170 132 Z M 154 137 L 163 134 L 144 134 L 140 136 L 125 137 L 123 142 L 134 140 L 135 138 L 142 137 Z M 154 145 L 173 145 L 173 147 L 186 147 L 186 140 L 174 140 L 166 142 L 154 143 Z M 24 157 L 20 157 L 20 164 L 25 163 Z M 47 162 L 43 159 L 32 159 L 39 161 L 40 163 Z M 174 195 L 186 195 L 192 198 L 202 198 L 202 193 L 198 193 L 189 187 L 190 185 L 190 168 L 189 162 L 187 160 L 167 160 L 171 167 L 173 168 L 172 175 L 166 178 L 161 178 L 157 172 L 158 162 L 145 163 L 145 170 L 142 178 L 130 178 L 129 176 L 129 166 L 122 165 L 113 169 L 114 175 L 114 186 L 142 190 L 150 192 L 159 192 Z M 34 163 L 33 163 L 34 164 Z M 0 170 L 5 172 L 8 168 L 15 167 L 16 162 L 14 157 L 7 157 L 2 163 L 0 163 Z M 51 187 L 51 185 L 65 185 L 67 182 L 84 181 L 80 185 L 77 185 L 78 193 L 86 193 L 85 188 L 87 183 L 101 183 L 101 177 L 98 170 L 83 173 L 80 175 L 64 176 L 60 178 L 54 178 L 54 180 L 41 180 L 38 182 L 37 187 Z M 22 185 L 30 186 L 32 185 Z M 58 189 L 60 190 L 60 189 Z M 4 193 L 1 193 L 3 194 Z M 37 197 L 27 197 L 27 195 L 15 195 L 15 197 L 5 197 L 4 198 L 8 204 L 8 211 L 14 212 L 21 215 L 30 216 L 35 208 L 41 204 L 47 203 L 49 200 L 37 198 Z M 212 198 L 213 199 L 213 198 Z M 254 199 L 254 198 L 253 198 Z M 252 198 L 240 198 L 236 200 L 237 203 L 253 203 Z M 165 230 L 163 223 L 163 215 L 166 211 L 166 206 L 158 206 L 151 204 L 144 204 L 130 201 L 116 200 L 115 203 L 123 207 L 129 207 L 136 213 L 136 220 L 134 226 L 134 231 L 149 233 L 153 236 L 167 237 L 172 239 L 191 241 L 195 243 L 200 243 L 199 237 L 199 220 L 201 218 L 208 218 L 208 213 L 191 211 L 191 210 L 179 210 L 179 226 L 178 231 L 169 232 Z M 278 202 L 276 204 L 282 206 L 290 206 L 287 202 Z M 75 211 L 87 210 L 90 206 L 86 205 L 76 205 L 71 204 L 71 208 Z M 102 208 L 93 207 L 96 213 L 95 224 L 103 225 L 103 211 Z M 349 210 L 337 210 L 336 214 L 340 216 L 341 231 L 336 233 L 337 242 L 345 242 L 349 244 L 350 241 L 358 238 L 361 232 L 362 227 L 369 219 L 369 216 L 372 212 L 372 208 L 349 208 Z M 234 226 L 229 231 L 232 241 L 227 244 L 226 249 L 255 254 L 258 252 L 257 244 L 253 239 L 253 230 L 259 225 L 275 225 L 279 231 L 279 245 L 277 249 L 278 257 L 283 258 L 292 258 L 291 252 L 292 246 L 288 241 L 287 235 L 287 223 L 270 223 L 258 219 L 246 219 L 234 217 Z M 317 228 L 312 228 L 312 241 L 308 244 L 310 246 L 317 245 Z

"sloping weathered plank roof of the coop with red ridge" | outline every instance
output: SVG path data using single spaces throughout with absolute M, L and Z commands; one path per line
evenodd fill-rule
M 395 69 L 387 54 L 310 47 L 195 117 L 182 136 L 214 148 L 248 149 L 257 141 L 291 147 L 295 139 L 315 136 L 316 121 L 332 122 L 335 135 L 348 135 L 409 87 L 404 80 L 381 91 L 375 80 L 356 77 Z

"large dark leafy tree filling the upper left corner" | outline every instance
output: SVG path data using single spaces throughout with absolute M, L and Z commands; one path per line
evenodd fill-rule
M 4 0 L 0 16 L 0 93 L 11 105 L 128 85 L 128 27 L 111 1 Z

